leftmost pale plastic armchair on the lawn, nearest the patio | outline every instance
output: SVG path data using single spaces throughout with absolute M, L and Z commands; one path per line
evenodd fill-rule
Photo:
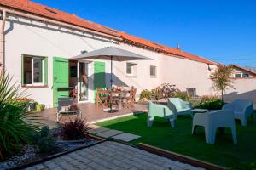
M 158 105 L 152 102 L 148 102 L 148 127 L 153 126 L 154 117 L 163 117 L 166 118 L 171 127 L 174 127 L 174 113 L 166 105 Z

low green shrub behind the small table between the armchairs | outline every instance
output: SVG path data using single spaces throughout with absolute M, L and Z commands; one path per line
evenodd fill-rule
M 201 102 L 197 106 L 200 109 L 219 110 L 224 105 L 224 102 L 218 96 L 202 96 Z

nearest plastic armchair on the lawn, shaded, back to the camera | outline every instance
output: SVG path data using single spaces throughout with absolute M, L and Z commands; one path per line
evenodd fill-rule
M 233 110 L 207 111 L 205 113 L 196 113 L 193 119 L 192 135 L 195 134 L 197 126 L 205 128 L 206 142 L 208 144 L 215 143 L 215 136 L 218 127 L 230 127 L 234 144 L 236 139 L 236 123 Z

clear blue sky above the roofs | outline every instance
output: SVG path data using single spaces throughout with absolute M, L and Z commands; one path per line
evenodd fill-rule
M 32 0 L 224 64 L 256 67 L 256 1 Z

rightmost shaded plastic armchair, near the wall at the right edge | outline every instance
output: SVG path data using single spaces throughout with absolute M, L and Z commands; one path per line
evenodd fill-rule
M 249 116 L 253 116 L 253 122 L 255 122 L 255 116 L 253 115 L 253 101 L 247 99 L 236 99 L 230 104 L 226 104 L 222 108 L 223 110 L 234 110 L 235 119 L 241 121 L 242 126 L 247 126 L 247 119 Z

